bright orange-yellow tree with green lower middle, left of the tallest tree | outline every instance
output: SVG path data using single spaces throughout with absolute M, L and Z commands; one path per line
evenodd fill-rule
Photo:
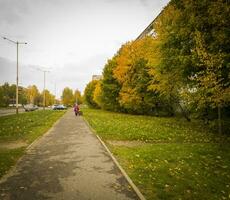
M 153 90 L 158 65 L 158 40 L 145 37 L 123 45 L 116 57 L 114 77 L 121 85 L 119 103 L 127 112 L 158 114 L 162 98 Z

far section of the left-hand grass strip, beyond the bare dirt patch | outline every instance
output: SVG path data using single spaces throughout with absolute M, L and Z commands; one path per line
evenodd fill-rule
M 0 117 L 0 142 L 23 139 L 31 143 L 63 114 L 63 111 L 40 110 Z

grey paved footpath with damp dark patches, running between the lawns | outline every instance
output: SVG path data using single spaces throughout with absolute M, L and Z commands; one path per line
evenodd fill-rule
M 0 182 L 0 199 L 138 198 L 84 120 L 69 110 Z

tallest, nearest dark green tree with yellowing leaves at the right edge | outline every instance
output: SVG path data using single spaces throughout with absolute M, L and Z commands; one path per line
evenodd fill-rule
M 172 0 L 154 25 L 160 88 L 185 117 L 182 103 L 193 112 L 229 104 L 229 9 L 229 1 Z

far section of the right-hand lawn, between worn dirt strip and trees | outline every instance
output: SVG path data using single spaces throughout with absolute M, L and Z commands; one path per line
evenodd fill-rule
M 217 137 L 198 121 L 181 118 L 128 115 L 102 110 L 83 109 L 84 117 L 105 140 L 139 140 L 156 143 L 219 142 L 229 137 Z

